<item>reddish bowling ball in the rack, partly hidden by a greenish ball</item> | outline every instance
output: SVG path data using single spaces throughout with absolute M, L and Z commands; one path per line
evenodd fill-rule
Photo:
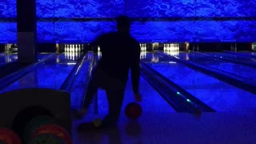
M 70 134 L 65 128 L 58 126 L 57 124 L 46 124 L 39 127 L 38 130 L 35 130 L 34 134 L 32 134 L 32 138 L 35 138 L 38 134 L 54 134 L 59 138 L 62 138 L 66 144 L 72 144 Z

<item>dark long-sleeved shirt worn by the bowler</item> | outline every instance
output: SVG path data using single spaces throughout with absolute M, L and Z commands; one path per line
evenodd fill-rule
M 100 46 L 102 51 L 98 68 L 110 77 L 118 78 L 124 82 L 127 81 L 129 70 L 131 70 L 133 90 L 134 93 L 138 92 L 141 51 L 139 43 L 130 34 L 111 32 L 102 34 L 92 44 Z

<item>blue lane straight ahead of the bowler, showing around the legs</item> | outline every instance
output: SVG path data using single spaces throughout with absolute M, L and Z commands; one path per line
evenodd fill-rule
M 140 77 L 140 93 L 142 94 L 142 116 L 149 113 L 176 113 L 175 110 L 162 98 L 160 94 L 143 77 Z M 129 102 L 136 102 L 134 99 L 134 92 L 132 90 L 132 83 L 130 79 L 126 84 L 125 98 L 122 104 L 122 111 Z M 108 103 L 106 93 L 104 90 L 98 90 L 98 113 L 108 113 Z M 124 113 L 122 113 L 124 114 Z

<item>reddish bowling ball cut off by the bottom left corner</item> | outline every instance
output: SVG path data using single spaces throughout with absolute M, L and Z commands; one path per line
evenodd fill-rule
M 6 144 L 21 144 L 22 140 L 13 130 L 7 128 L 0 128 L 0 141 Z

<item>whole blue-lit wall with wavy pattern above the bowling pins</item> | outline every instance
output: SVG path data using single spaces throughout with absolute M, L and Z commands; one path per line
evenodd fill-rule
M 16 42 L 16 0 L 0 2 L 0 42 Z M 134 19 L 140 42 L 255 42 L 255 0 L 37 0 L 38 42 L 91 42 Z

